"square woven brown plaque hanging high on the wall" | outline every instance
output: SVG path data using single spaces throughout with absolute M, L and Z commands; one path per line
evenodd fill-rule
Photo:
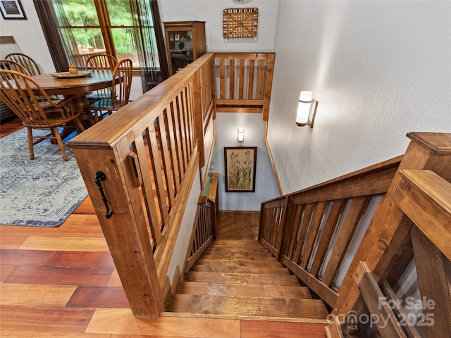
M 259 8 L 226 8 L 223 10 L 223 37 L 237 39 L 257 37 Z

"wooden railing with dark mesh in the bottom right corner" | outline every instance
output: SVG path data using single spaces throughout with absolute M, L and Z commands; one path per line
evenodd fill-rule
M 326 330 L 328 337 L 355 332 L 368 337 L 371 326 L 383 338 L 421 337 L 420 329 L 427 337 L 451 337 L 451 183 L 431 170 L 401 170 L 399 174 L 393 200 L 402 212 L 403 225 L 390 242 L 391 267 L 387 269 L 381 259 L 371 270 L 361 261 L 353 275 L 372 325 L 354 306 L 352 312 L 361 314 L 351 318 L 350 313 L 335 313 Z M 412 258 L 419 297 L 403 301 L 393 291 L 402 273 L 397 265 Z

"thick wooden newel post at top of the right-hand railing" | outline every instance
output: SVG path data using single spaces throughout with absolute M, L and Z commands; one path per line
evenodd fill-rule
M 391 258 L 393 258 L 391 246 L 395 233 L 396 236 L 402 236 L 401 233 L 409 228 L 409 225 L 405 224 L 404 213 L 393 198 L 393 193 L 400 182 L 399 171 L 432 170 L 451 182 L 451 133 L 410 132 L 407 137 L 411 139 L 411 142 L 340 286 L 339 296 L 333 307 L 334 314 L 349 313 L 357 302 L 360 292 L 354 282 L 353 273 L 359 262 L 365 261 L 371 271 L 377 267 L 376 277 L 382 279 L 387 274 Z

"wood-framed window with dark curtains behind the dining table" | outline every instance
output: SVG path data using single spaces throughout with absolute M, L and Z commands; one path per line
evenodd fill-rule
M 168 77 L 156 0 L 35 0 L 35 8 L 57 71 L 106 53 L 130 58 L 149 83 Z

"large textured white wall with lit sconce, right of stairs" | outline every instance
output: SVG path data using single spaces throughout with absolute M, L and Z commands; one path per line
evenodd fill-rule
M 268 141 L 290 193 L 451 132 L 451 1 L 280 1 Z M 319 100 L 297 127 L 301 90 Z

